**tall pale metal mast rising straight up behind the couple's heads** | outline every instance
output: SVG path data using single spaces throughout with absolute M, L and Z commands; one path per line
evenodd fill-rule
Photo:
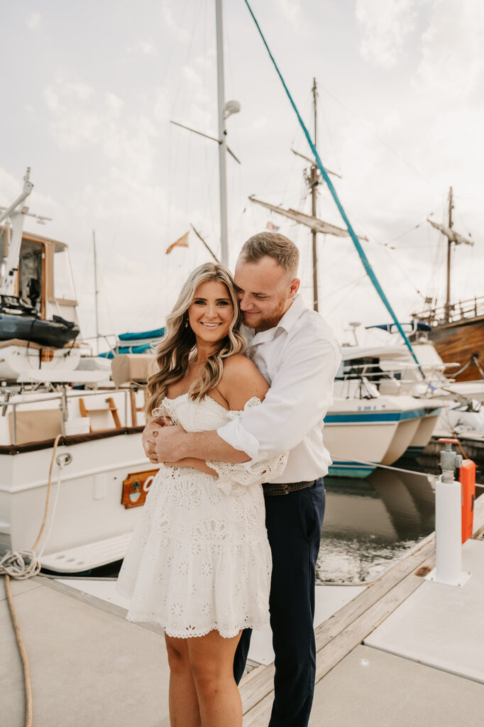
M 225 131 L 224 46 L 222 28 L 222 0 L 215 0 L 217 28 L 217 95 L 219 110 L 219 187 L 220 187 L 220 257 L 228 265 L 227 224 L 227 132 Z

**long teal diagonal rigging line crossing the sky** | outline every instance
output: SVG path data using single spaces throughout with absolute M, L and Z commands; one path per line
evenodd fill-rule
M 328 172 L 326 172 L 326 169 L 324 168 L 323 163 L 319 158 L 319 154 L 316 151 L 315 145 L 312 143 L 310 134 L 307 131 L 306 126 L 304 125 L 304 121 L 302 121 L 299 111 L 297 110 L 297 105 L 294 103 L 294 100 L 292 99 L 292 96 L 289 93 L 289 89 L 286 86 L 286 82 L 284 81 L 284 79 L 281 75 L 281 71 L 279 71 L 277 63 L 275 63 L 273 54 L 270 52 L 269 46 L 267 45 L 267 41 L 265 40 L 264 34 L 262 33 L 262 31 L 260 29 L 259 23 L 257 23 L 256 17 L 254 15 L 254 13 L 252 12 L 249 2 L 248 2 L 248 0 L 244 0 L 244 2 L 249 9 L 252 19 L 254 20 L 254 23 L 256 24 L 257 30 L 259 31 L 259 35 L 262 38 L 262 42 L 264 43 L 264 45 L 267 49 L 267 53 L 269 54 L 270 60 L 272 60 L 272 62 L 274 64 L 274 68 L 277 71 L 279 78 L 281 79 L 281 83 L 283 84 L 284 90 L 286 91 L 289 101 L 291 102 L 292 108 L 294 108 L 294 111 L 296 113 L 299 124 L 301 124 L 301 126 L 302 126 L 304 136 L 306 137 L 307 142 L 310 145 L 311 151 L 316 160 L 316 164 L 318 164 L 319 170 L 320 170 L 321 174 L 323 175 L 323 180 L 328 185 L 328 189 L 331 192 L 331 195 L 333 196 L 334 201 L 336 202 L 336 206 L 339 209 L 339 213 L 341 214 L 341 216 L 344 220 L 344 224 L 347 226 L 347 230 L 348 230 L 348 233 L 350 234 L 353 244 L 355 245 L 355 248 L 358 251 L 360 260 L 361 260 L 361 262 L 363 262 L 363 267 L 365 268 L 366 273 L 368 273 L 368 278 L 370 278 L 371 282 L 374 284 L 374 288 L 376 289 L 376 292 L 379 294 L 379 297 L 382 299 L 385 308 L 387 308 L 388 312 L 390 313 L 390 316 L 392 316 L 392 318 L 393 318 L 393 321 L 395 321 L 395 325 L 398 328 L 398 332 L 400 333 L 401 337 L 405 341 L 406 347 L 410 351 L 411 355 L 414 358 L 415 363 L 417 364 L 417 366 L 419 366 L 419 370 L 420 370 L 422 376 L 424 377 L 424 372 L 422 371 L 422 367 L 419 364 L 419 360 L 415 356 L 414 349 L 411 346 L 411 342 L 408 340 L 405 331 L 403 330 L 402 326 L 400 325 L 400 321 L 398 321 L 398 318 L 395 315 L 392 306 L 390 305 L 390 301 L 387 299 L 387 296 L 384 294 L 382 286 L 379 284 L 378 278 L 376 278 L 374 270 L 371 267 L 370 261 L 368 260 L 368 257 L 366 257 L 365 251 L 363 250 L 363 247 L 361 246 L 361 243 L 355 234 L 355 230 L 353 230 L 350 220 L 348 220 L 347 214 L 346 214 L 346 212 L 344 212 L 343 206 L 342 206 L 341 202 L 339 201 L 339 198 L 338 198 L 338 195 L 336 194 L 336 190 L 334 189 L 333 183 L 331 182 L 330 178 L 328 177 Z

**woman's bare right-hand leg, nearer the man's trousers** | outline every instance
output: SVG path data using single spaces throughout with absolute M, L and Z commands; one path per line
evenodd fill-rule
M 223 638 L 218 631 L 188 639 L 188 658 L 203 727 L 241 727 L 242 702 L 233 678 L 233 657 L 241 632 Z

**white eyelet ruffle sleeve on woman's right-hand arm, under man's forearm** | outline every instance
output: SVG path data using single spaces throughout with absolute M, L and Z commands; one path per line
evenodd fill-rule
M 260 399 L 253 396 L 246 402 L 243 411 L 252 409 L 260 403 Z M 230 419 L 237 419 L 241 414 L 242 411 L 227 411 L 227 416 Z M 270 459 L 263 459 L 254 463 L 242 462 L 233 465 L 230 462 L 211 462 L 207 460 L 206 464 L 219 475 L 217 481 L 219 488 L 225 492 L 230 492 L 234 484 L 247 486 L 267 482 L 278 477 L 286 467 L 288 454 L 289 452 L 282 452 Z

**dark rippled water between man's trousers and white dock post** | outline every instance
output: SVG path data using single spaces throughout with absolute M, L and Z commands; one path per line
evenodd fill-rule
M 369 582 L 434 530 L 435 478 L 375 470 L 327 477 L 319 582 Z

